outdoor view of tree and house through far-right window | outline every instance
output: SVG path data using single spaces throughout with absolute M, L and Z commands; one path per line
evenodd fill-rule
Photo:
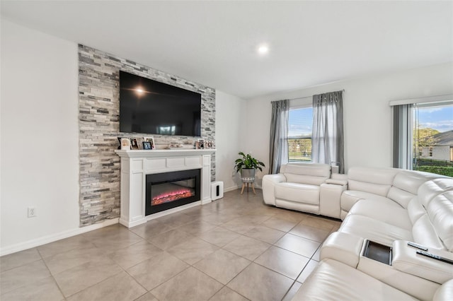
M 413 112 L 413 169 L 453 177 L 453 103 Z

